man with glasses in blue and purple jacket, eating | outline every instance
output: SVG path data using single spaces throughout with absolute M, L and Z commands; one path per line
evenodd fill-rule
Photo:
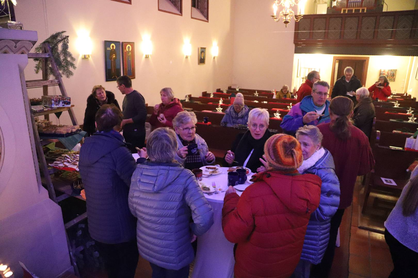
M 312 87 L 312 95 L 308 95 L 300 103 L 296 103 L 287 115 L 283 117 L 280 127 L 283 132 L 295 135 L 296 130 L 304 125 L 319 125 L 329 123 L 329 84 L 326 81 L 316 81 Z

